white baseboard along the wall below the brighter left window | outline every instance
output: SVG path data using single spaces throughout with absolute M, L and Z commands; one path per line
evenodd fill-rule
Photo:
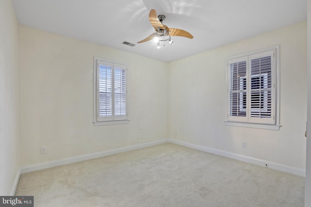
M 81 156 L 76 156 L 72 158 L 67 158 L 67 159 L 60 159 L 60 160 L 55 160 L 51 162 L 45 162 L 45 163 L 40 163 L 40 164 L 35 164 L 35 165 L 29 165 L 26 167 L 21 167 L 20 168 L 20 174 L 25 174 L 25 173 L 30 173 L 38 170 L 43 170 L 51 167 L 56 167 L 56 166 L 61 166 L 61 165 L 66 165 L 66 164 L 71 164 L 75 162 L 81 162 L 89 159 L 96 159 L 96 158 L 102 158 L 105 156 L 109 155 L 115 155 L 119 154 L 122 152 L 128 152 L 144 147 L 149 147 L 149 146 L 154 146 L 157 144 L 162 144 L 162 143 L 167 143 L 168 140 L 158 140 L 154 142 L 149 142 L 149 143 L 141 143 L 141 144 L 136 144 L 136 145 L 131 145 L 131 146 L 126 146 L 126 147 L 121 147 L 117 149 L 111 149 L 103 152 L 96 152 L 96 153 L 91 153 L 87 155 L 81 155 Z

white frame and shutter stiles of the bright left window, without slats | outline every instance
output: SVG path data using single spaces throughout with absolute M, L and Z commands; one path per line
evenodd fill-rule
M 107 63 L 107 66 L 111 66 L 111 96 L 112 96 L 112 115 L 106 117 L 100 117 L 99 113 L 99 101 L 100 101 L 100 89 L 99 89 L 99 64 Z M 94 126 L 103 126 L 103 125 L 117 125 L 117 124 L 128 124 L 128 101 L 127 101 L 127 70 L 128 65 L 116 61 L 106 60 L 99 57 L 94 57 L 93 60 L 93 124 Z M 125 68 L 123 68 L 125 67 Z M 114 104 L 115 104 L 115 70 L 117 69 L 125 69 L 125 115 L 117 116 L 114 112 Z

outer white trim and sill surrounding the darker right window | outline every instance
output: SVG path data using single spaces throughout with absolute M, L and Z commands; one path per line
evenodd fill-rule
M 275 64 L 275 124 L 260 124 L 260 123 L 249 123 L 249 122 L 239 122 L 239 121 L 230 121 L 228 120 L 228 114 L 226 117 L 226 121 L 225 121 L 225 125 L 226 126 L 234 126 L 234 127 L 250 127 L 250 128 L 260 128 L 260 129 L 271 129 L 271 130 L 279 130 L 279 127 L 281 127 L 280 125 L 280 46 L 276 45 L 276 46 L 272 46 L 269 48 L 263 48 L 263 49 L 259 49 L 259 50 L 255 50 L 252 52 L 247 52 L 241 55 L 237 55 L 237 56 L 233 56 L 230 58 L 227 58 L 227 62 L 231 59 L 235 59 L 235 58 L 241 58 L 244 56 L 248 56 L 248 55 L 253 55 L 256 53 L 260 53 L 260 52 L 265 52 L 265 51 L 269 51 L 269 50 L 274 50 L 275 52 L 275 59 L 274 59 L 274 64 Z M 226 67 L 226 82 L 227 82 L 227 89 L 228 87 L 228 67 Z M 226 96 L 228 97 L 228 93 L 226 93 Z M 227 98 L 227 106 L 229 104 L 229 100 Z M 226 111 L 226 113 L 228 112 L 228 110 Z

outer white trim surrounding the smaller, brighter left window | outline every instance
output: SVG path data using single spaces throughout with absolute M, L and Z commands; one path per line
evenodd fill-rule
M 97 120 L 97 61 L 103 61 L 103 62 L 109 62 L 109 63 L 114 63 L 114 64 L 122 64 L 122 65 L 127 65 L 124 63 L 112 61 L 112 60 L 107 60 L 99 57 L 95 57 L 93 59 L 93 124 L 94 126 L 106 126 L 106 125 L 119 125 L 119 124 L 128 124 L 130 122 L 129 120 L 129 114 L 128 114 L 128 101 L 126 98 L 126 112 L 127 116 L 126 119 L 117 119 L 117 120 Z M 127 65 L 128 69 L 128 65 Z M 127 74 L 126 74 L 127 77 Z M 127 80 L 126 80 L 127 84 Z M 127 94 L 128 96 L 128 94 Z

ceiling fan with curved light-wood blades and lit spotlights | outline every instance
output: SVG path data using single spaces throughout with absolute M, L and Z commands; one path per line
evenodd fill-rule
M 155 9 L 152 9 L 149 13 L 149 21 L 151 25 L 155 28 L 155 33 L 149 35 L 145 39 L 139 41 L 138 43 L 147 42 L 149 40 L 154 39 L 157 42 L 157 48 L 160 48 L 160 41 L 169 41 L 170 45 L 173 45 L 173 41 L 171 40 L 171 36 L 181 36 L 192 39 L 193 36 L 184 30 L 169 28 L 168 26 L 162 24 L 165 20 L 164 15 L 156 15 Z

